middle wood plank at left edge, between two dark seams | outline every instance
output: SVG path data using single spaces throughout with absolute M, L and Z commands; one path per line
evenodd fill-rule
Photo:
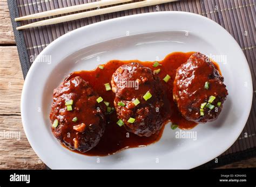
M 23 75 L 16 46 L 0 46 L 0 114 L 20 114 Z

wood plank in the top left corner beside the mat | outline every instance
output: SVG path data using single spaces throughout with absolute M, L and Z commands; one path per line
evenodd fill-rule
M 7 0 L 0 0 L 0 45 L 15 44 Z

